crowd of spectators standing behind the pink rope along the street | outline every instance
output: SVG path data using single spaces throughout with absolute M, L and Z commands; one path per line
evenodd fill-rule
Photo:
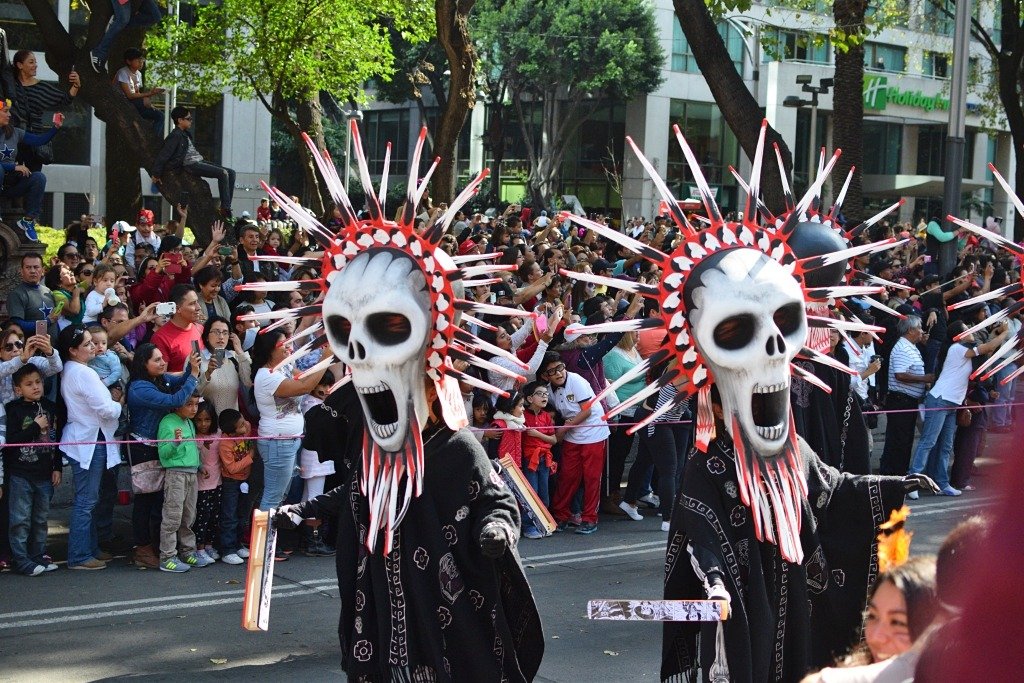
M 428 203 L 420 219 L 443 208 Z M 243 319 L 247 313 L 301 307 L 317 293 L 238 290 L 243 283 L 315 279 L 316 268 L 292 265 L 286 258 L 315 260 L 315 243 L 282 220 L 279 208 L 267 201 L 261 203 L 259 220 L 215 223 L 212 241 L 200 249 L 182 242 L 187 213 L 178 209 L 179 219 L 165 225 L 155 224 L 148 211 L 140 212 L 134 225 L 120 221 L 102 246 L 76 223 L 53 263 L 35 255 L 23 258 L 23 282 L 8 301 L 10 319 L 2 328 L 0 348 L 7 442 L 19 444 L 4 450 L 7 483 L 0 507 L 10 512 L 10 520 L 0 528 L 9 530 L 10 548 L 4 539 L 0 551 L 22 572 L 42 573 L 53 566 L 38 540 L 37 522 L 45 518 L 48 495 L 66 463 L 76 492 L 69 566 L 86 569 L 103 568 L 114 553 L 129 549 L 137 564 L 167 571 L 217 559 L 241 564 L 253 507 L 298 501 L 336 483 L 332 454 L 302 447 L 305 414 L 323 401 L 336 378 L 331 371 L 302 375 L 321 360 L 323 350 L 290 358 L 293 348 L 305 343 L 301 333 L 315 325 L 314 317 L 265 334 L 257 334 L 257 322 Z M 656 301 L 564 274 L 574 270 L 656 283 L 662 273 L 615 243 L 570 229 L 546 212 L 531 220 L 516 205 L 502 214 L 488 213 L 494 215 L 459 214 L 441 248 L 453 256 L 497 254 L 498 262 L 514 269 L 466 296 L 537 315 L 526 323 L 485 321 L 496 329 L 475 331 L 525 364 L 525 371 L 516 372 L 526 383 L 498 369 L 483 372 L 480 379 L 510 394 L 497 402 L 464 385 L 474 434 L 492 457 L 510 457 L 523 470 L 559 530 L 593 533 L 600 514 L 642 520 L 644 513 L 659 513 L 667 528 L 692 445 L 691 414 L 666 413 L 635 435 L 628 427 L 669 402 L 677 387 L 669 383 L 617 420 L 604 420 L 606 411 L 656 380 L 665 371 L 658 366 L 594 402 L 610 382 L 651 355 L 660 333 L 566 331 L 574 322 L 657 315 Z M 666 250 L 679 239 L 665 216 L 632 218 L 617 228 Z M 225 246 L 231 232 L 238 244 Z M 836 455 L 856 442 L 854 432 L 866 434 L 866 449 L 871 435 L 884 434 L 883 473 L 925 472 L 943 495 L 958 496 L 973 487 L 973 463 L 985 434 L 1007 429 L 1015 409 L 1014 383 L 999 384 L 1014 365 L 987 381 L 971 379 L 972 369 L 1015 335 L 1020 321 L 1012 313 L 987 336 L 975 331 L 954 341 L 1014 301 L 994 296 L 953 311 L 946 306 L 1019 278 L 1019 264 L 959 236 L 957 267 L 940 282 L 923 255 L 927 231 L 920 232 L 883 222 L 862 236 L 909 239 L 894 253 L 855 264 L 863 273 L 855 282 L 873 275 L 895 283 L 873 302 L 851 301 L 860 319 L 886 332 L 845 340 L 834 334 L 826 351 L 849 362 L 857 376 L 843 383 L 819 374 L 833 385 L 833 398 L 812 401 L 817 417 L 798 419 L 797 425 L 826 462 L 850 471 L 869 466 L 866 454 L 862 466 L 852 456 Z M 489 359 L 515 369 L 502 356 Z M 793 388 L 800 415 L 801 401 L 816 391 L 802 382 L 795 379 Z M 852 403 L 857 410 L 851 415 Z M 923 420 L 919 407 L 926 409 Z M 879 412 L 889 410 L 896 412 L 880 421 Z M 11 416 L 19 424 L 12 424 Z M 914 449 L 919 422 L 922 438 Z M 842 425 L 842 435 L 829 433 L 829 424 Z M 31 445 L 58 437 L 69 445 Z M 89 444 L 97 440 L 125 443 Z M 131 468 L 134 488 L 130 542 L 115 538 L 112 524 L 116 469 L 122 464 Z M 546 536 L 537 521 L 525 519 L 526 538 Z M 305 528 L 291 546 L 284 544 L 284 550 L 292 548 L 333 553 L 314 527 Z M 283 552 L 279 559 L 287 557 Z

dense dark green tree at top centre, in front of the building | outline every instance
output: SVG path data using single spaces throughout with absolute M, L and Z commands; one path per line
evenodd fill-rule
M 530 201 L 550 206 L 580 126 L 660 84 L 653 9 L 646 0 L 481 0 L 477 11 L 475 35 L 495 46 L 490 68 L 505 72 L 525 141 Z

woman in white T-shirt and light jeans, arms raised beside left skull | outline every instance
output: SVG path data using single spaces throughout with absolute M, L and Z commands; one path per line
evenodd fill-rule
M 300 398 L 316 388 L 325 370 L 298 380 L 282 361 L 292 353 L 285 333 L 271 330 L 253 344 L 253 395 L 259 409 L 256 447 L 263 461 L 263 497 L 260 510 L 276 508 L 285 500 L 303 429 Z

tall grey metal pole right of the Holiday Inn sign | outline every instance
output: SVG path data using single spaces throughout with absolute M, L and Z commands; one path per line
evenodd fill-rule
M 942 185 L 942 228 L 955 230 L 946 221 L 948 215 L 958 215 L 964 173 L 964 148 L 967 115 L 967 74 L 971 38 L 971 0 L 958 0 L 953 26 L 953 70 L 949 80 L 949 134 L 946 137 L 945 181 Z M 944 276 L 956 265 L 956 240 L 938 247 L 939 275 Z

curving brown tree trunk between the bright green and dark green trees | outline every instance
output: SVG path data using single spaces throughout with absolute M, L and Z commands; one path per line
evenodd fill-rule
M 434 0 L 437 41 L 452 72 L 434 132 L 434 155 L 441 158 L 431 181 L 435 203 L 451 202 L 455 196 L 456 146 L 466 117 L 476 104 L 476 49 L 469 37 L 469 12 L 474 4 L 475 0 Z

